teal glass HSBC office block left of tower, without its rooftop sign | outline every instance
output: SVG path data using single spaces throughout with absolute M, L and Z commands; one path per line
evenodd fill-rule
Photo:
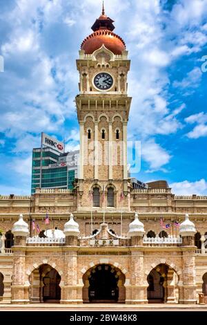
M 42 150 L 42 154 L 41 154 Z M 73 189 L 78 177 L 79 151 L 60 153 L 50 147 L 32 151 L 32 194 L 41 189 Z

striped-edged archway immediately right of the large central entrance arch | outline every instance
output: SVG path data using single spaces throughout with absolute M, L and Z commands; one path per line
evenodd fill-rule
M 153 263 L 150 272 L 145 272 L 148 281 L 148 303 L 177 303 L 181 271 L 177 271 L 174 263 L 163 259 L 161 261 L 162 263 Z

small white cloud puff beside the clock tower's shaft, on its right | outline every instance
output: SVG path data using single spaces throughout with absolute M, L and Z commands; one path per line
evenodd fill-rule
M 170 154 L 161 148 L 155 140 L 144 142 L 141 147 L 141 158 L 149 164 L 150 172 L 159 170 L 170 161 Z

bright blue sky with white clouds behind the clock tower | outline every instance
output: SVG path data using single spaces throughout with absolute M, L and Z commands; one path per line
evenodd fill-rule
M 128 140 L 141 142 L 132 176 L 207 195 L 207 0 L 105 0 L 105 9 L 131 59 Z M 75 60 L 100 14 L 101 0 L 0 0 L 1 195 L 30 194 L 41 131 L 79 148 Z

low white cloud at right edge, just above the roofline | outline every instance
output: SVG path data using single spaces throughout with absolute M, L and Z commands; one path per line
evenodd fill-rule
M 170 187 L 172 188 L 172 193 L 177 195 L 207 194 L 207 182 L 204 179 L 195 182 L 184 180 L 183 182 L 172 183 Z

